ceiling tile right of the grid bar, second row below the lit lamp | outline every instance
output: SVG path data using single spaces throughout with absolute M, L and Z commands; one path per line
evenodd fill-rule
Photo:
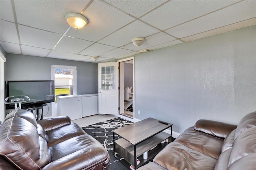
M 60 40 L 58 45 L 56 45 L 54 50 L 64 51 L 68 53 L 78 53 L 83 49 L 87 48 L 88 46 L 92 45 L 92 43 L 93 42 L 88 42 L 86 40 L 64 36 Z

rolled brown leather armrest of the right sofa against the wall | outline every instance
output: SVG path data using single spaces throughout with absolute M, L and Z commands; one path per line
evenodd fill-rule
M 224 139 L 236 127 L 228 123 L 200 119 L 196 122 L 194 129 Z

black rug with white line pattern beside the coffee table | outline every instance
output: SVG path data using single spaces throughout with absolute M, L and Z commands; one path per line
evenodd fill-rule
M 113 155 L 113 132 L 112 130 L 126 125 L 130 125 L 132 122 L 122 119 L 120 117 L 110 119 L 108 121 L 96 123 L 87 127 L 82 127 L 82 129 L 98 140 L 108 151 L 110 155 L 109 170 L 127 170 L 121 162 L 118 161 Z M 115 140 L 120 138 L 115 135 Z

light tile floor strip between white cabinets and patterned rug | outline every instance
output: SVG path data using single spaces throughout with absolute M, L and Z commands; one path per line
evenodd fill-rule
M 80 127 L 86 127 L 88 125 L 93 125 L 95 123 L 100 123 L 110 119 L 116 118 L 117 115 L 92 115 L 88 117 L 83 117 L 81 119 L 72 120 L 72 122 L 78 124 Z

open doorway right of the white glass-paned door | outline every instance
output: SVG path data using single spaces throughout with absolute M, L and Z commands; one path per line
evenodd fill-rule
M 134 58 L 119 62 L 120 115 L 134 118 Z

